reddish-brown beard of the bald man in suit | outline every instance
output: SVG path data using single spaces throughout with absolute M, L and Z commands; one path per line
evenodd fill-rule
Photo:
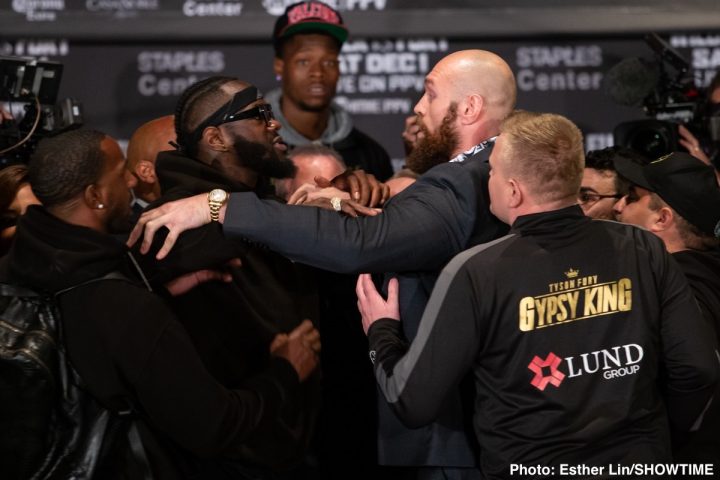
M 425 125 L 421 124 L 425 137 L 415 145 L 405 159 L 405 166 L 422 175 L 435 165 L 450 161 L 450 156 L 460 143 L 455 130 L 455 120 L 457 120 L 457 104 L 452 103 L 435 134 L 430 134 Z

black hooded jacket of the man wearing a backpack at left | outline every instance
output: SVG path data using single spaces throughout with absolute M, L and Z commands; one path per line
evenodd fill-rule
M 32 206 L 18 224 L 0 280 L 56 292 L 112 271 L 138 279 L 122 243 Z M 70 359 L 90 393 L 110 409 L 124 407 L 124 399 L 139 406 L 141 435 L 159 479 L 189 477 L 193 458 L 240 457 L 298 387 L 293 367 L 275 357 L 237 389 L 223 387 L 164 302 L 139 281 L 78 287 L 61 297 L 60 311 Z M 140 478 L 122 458 L 106 467 L 103 478 Z

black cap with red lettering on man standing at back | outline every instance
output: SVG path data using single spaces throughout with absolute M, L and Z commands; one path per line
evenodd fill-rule
M 275 22 L 273 43 L 275 49 L 281 40 L 303 32 L 327 33 L 342 45 L 348 37 L 347 28 L 337 10 L 322 2 L 298 2 L 289 5 Z

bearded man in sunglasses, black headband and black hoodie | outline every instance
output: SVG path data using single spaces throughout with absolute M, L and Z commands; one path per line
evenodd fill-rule
M 219 209 L 225 191 L 273 198 L 269 179 L 295 173 L 284 157 L 279 129 L 254 86 L 222 76 L 191 85 L 175 111 L 177 149 L 157 158 L 162 197 L 151 206 L 200 192 L 210 192 L 211 212 Z M 221 384 L 252 383 L 271 359 L 275 335 L 289 334 L 306 318 L 317 319 L 313 279 L 284 257 L 243 239 L 226 239 L 218 223 L 185 232 L 178 246 L 163 262 L 143 256 L 151 282 L 198 265 L 242 260 L 242 267 L 236 261 L 226 267 L 231 283 L 206 283 L 169 302 Z M 248 439 L 241 460 L 301 476 L 298 468 L 303 468 L 319 409 L 319 386 L 318 375 L 301 385 L 282 415 Z

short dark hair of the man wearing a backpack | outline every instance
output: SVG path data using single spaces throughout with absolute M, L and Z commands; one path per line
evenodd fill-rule
M 28 165 L 28 178 L 40 203 L 65 204 L 98 181 L 105 137 L 97 130 L 71 130 L 40 141 Z

